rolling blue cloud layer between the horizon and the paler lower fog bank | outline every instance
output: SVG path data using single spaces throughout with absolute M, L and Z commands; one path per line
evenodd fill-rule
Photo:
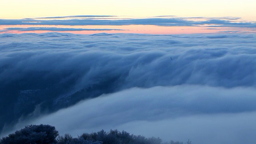
M 45 33 L 0 37 L 5 40 L 0 45 L 0 80 L 4 81 L 14 80 L 18 71 L 17 77 L 30 71 L 66 71 L 80 74 L 77 82 L 82 85 L 88 78 L 97 82 L 98 74 L 124 76 L 128 87 L 256 85 L 254 35 Z

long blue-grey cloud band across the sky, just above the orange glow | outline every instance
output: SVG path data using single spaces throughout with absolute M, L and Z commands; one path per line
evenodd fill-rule
M 63 26 L 84 26 L 84 25 L 155 25 L 155 26 L 206 26 L 206 27 L 241 27 L 255 28 L 256 22 L 239 22 L 238 18 L 208 18 L 198 17 L 198 20 L 190 18 L 131 18 L 131 19 L 64 19 L 64 20 L 36 20 L 36 19 L 0 19 L 0 25 L 63 25 Z

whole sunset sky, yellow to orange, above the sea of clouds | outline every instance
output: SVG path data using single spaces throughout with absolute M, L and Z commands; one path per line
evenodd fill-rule
M 62 0 L 2 0 L 0 4 L 0 32 L 12 32 L 12 33 L 24 33 L 24 32 L 71 32 L 76 34 L 93 34 L 99 32 L 108 33 L 142 33 L 142 34 L 190 34 L 190 33 L 215 33 L 215 32 L 255 32 L 256 16 L 255 7 L 256 2 L 254 0 L 74 0 L 74 1 L 62 1 Z M 63 16 L 63 18 L 56 18 L 57 16 Z M 67 18 L 65 16 L 74 16 Z M 96 16 L 96 17 L 78 17 L 78 16 Z M 99 16 L 112 16 L 112 17 L 99 17 Z M 167 16 L 167 17 L 159 17 Z M 24 21 L 24 18 L 36 18 L 54 17 L 47 20 L 60 20 L 58 24 L 40 22 L 26 25 L 26 22 L 17 24 L 12 20 Z M 200 18 L 198 18 L 200 17 Z M 228 21 L 224 18 L 232 18 Z M 102 22 L 99 20 L 108 22 Z M 155 23 L 143 22 L 134 23 L 124 21 L 119 26 L 114 25 L 113 20 L 117 19 L 149 19 L 156 18 Z M 170 22 L 172 25 L 163 26 L 158 25 L 159 19 L 181 19 L 186 21 L 205 21 L 208 20 L 221 20 L 221 27 L 216 29 L 208 29 L 208 26 L 204 25 L 184 25 L 182 23 Z M 189 19 L 188 19 L 189 18 Z M 10 20 L 12 19 L 12 20 Z M 67 19 L 80 19 L 80 20 L 94 20 L 96 23 L 80 22 L 74 24 L 70 22 L 65 24 Z M 31 19 L 30 19 L 31 20 Z M 36 19 L 38 20 L 38 19 Z M 61 21 L 63 20 L 63 21 Z M 98 20 L 98 21 L 97 21 Z M 3 22 L 4 21 L 4 22 Z M 8 21 L 8 25 L 6 25 Z M 26 21 L 26 20 L 25 20 Z M 230 26 L 223 22 L 236 22 L 243 24 L 246 22 L 250 26 Z M 208 25 L 214 25 L 216 22 L 208 22 Z M 102 30 L 95 30 L 91 27 Z M 43 30 L 31 30 L 31 28 L 42 27 Z M 62 28 L 58 30 L 51 30 L 50 27 Z M 239 28 L 238 28 L 239 27 Z M 10 28 L 16 28 L 10 30 Z M 20 30 L 17 28 L 30 28 L 26 30 Z M 45 29 L 48 28 L 48 29 Z M 67 30 L 63 28 L 72 28 Z M 76 28 L 76 29 L 75 29 Z M 106 30 L 107 29 L 107 30 Z M 120 30 L 122 29 L 122 31 Z

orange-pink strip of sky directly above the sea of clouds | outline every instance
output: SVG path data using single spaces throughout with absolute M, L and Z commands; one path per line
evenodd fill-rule
M 50 31 L 50 30 L 34 30 L 34 31 L 17 31 L 11 30 L 0 33 L 44 33 L 44 32 L 68 32 L 73 34 L 95 34 L 95 33 L 137 33 L 137 34 L 196 34 L 196 33 L 216 33 L 220 31 L 250 31 L 250 28 L 233 28 L 233 27 L 203 27 L 203 26 L 154 26 L 154 25 L 124 25 L 124 26 L 53 26 L 53 25 L 15 25 L 0 26 L 0 30 L 4 28 L 30 28 L 30 27 L 47 27 L 47 28 L 85 28 L 85 29 L 122 29 L 122 30 L 83 30 L 83 31 Z

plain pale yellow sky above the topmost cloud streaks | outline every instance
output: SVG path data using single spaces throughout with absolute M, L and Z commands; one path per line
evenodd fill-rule
M 1 0 L 0 17 L 69 15 L 235 16 L 256 19 L 255 0 Z

